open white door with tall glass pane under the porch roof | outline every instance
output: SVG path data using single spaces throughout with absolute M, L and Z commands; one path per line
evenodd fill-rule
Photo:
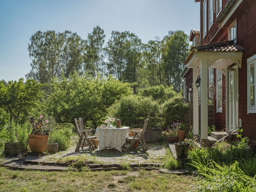
M 238 82 L 237 69 L 227 67 L 226 131 L 238 128 Z

